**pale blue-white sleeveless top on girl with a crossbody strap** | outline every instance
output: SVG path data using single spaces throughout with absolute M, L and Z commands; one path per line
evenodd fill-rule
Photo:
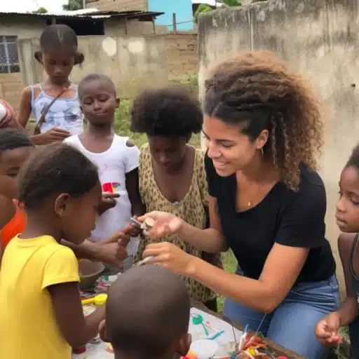
M 71 85 L 75 94 L 72 98 L 58 98 L 48 110 L 45 122 L 41 126 L 41 133 L 47 132 L 51 128 L 61 128 L 67 130 L 72 135 L 80 135 L 83 133 L 83 114 L 81 112 L 79 94 L 77 86 Z M 34 98 L 34 89 L 40 88 L 41 92 Z M 31 108 L 36 123 L 39 122 L 43 109 L 45 109 L 53 97 L 46 95 L 40 83 L 31 88 Z

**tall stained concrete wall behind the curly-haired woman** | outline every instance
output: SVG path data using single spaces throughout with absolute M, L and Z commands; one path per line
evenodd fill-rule
M 202 94 L 211 62 L 240 50 L 264 49 L 308 76 L 327 104 L 320 173 L 327 189 L 327 238 L 338 263 L 334 212 L 339 175 L 359 133 L 358 32 L 357 0 L 269 0 L 205 14 L 198 25 Z

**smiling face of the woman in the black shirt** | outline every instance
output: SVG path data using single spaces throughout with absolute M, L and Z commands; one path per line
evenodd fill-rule
M 208 157 L 212 158 L 217 174 L 222 177 L 248 167 L 268 140 L 267 130 L 252 140 L 239 126 L 210 116 L 203 118 L 203 134 Z

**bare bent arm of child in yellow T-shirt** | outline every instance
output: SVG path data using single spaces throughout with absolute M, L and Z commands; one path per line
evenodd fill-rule
M 47 288 L 53 302 L 57 325 L 67 343 L 79 348 L 88 343 L 98 333 L 100 322 L 104 320 L 105 306 L 84 318 L 78 283 L 63 283 Z

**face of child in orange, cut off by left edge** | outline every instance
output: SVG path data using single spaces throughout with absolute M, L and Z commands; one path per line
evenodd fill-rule
M 8 149 L 0 156 L 0 189 L 9 198 L 18 198 L 18 172 L 34 147 Z

